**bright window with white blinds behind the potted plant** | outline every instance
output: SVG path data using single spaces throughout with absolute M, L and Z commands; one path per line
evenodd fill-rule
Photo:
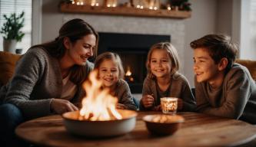
M 0 27 L 4 23 L 3 15 L 10 15 L 11 13 L 20 14 L 25 11 L 25 24 L 22 31 L 25 33 L 21 42 L 17 43 L 16 48 L 22 48 L 24 54 L 32 44 L 32 0 L 0 0 Z M 3 38 L 0 34 L 0 51 L 3 50 Z

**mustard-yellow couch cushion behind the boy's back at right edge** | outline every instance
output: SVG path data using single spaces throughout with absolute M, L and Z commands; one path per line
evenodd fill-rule
M 251 77 L 256 80 L 256 60 L 242 60 L 238 59 L 235 60 L 236 63 L 244 65 L 247 67 L 249 72 L 251 73 Z

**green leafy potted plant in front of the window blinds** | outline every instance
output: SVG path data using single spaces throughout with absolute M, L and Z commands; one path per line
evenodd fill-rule
M 16 43 L 18 41 L 22 41 L 22 38 L 25 35 L 21 31 L 25 21 L 24 14 L 25 12 L 22 11 L 20 15 L 16 15 L 15 13 L 12 13 L 9 17 L 7 15 L 3 15 L 5 22 L 0 33 L 3 34 L 4 38 L 4 51 L 9 51 L 15 54 Z

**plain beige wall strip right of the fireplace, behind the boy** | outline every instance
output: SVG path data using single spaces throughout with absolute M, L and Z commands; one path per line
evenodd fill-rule
M 193 50 L 190 42 L 216 31 L 216 0 L 191 0 L 192 16 L 185 20 L 185 77 L 194 87 Z

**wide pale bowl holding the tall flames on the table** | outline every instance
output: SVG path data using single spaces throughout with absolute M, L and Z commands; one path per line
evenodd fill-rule
M 64 113 L 64 126 L 68 132 L 77 136 L 110 137 L 131 132 L 135 128 L 137 113 L 132 110 L 118 109 L 122 119 L 106 121 L 78 120 L 79 112 Z

